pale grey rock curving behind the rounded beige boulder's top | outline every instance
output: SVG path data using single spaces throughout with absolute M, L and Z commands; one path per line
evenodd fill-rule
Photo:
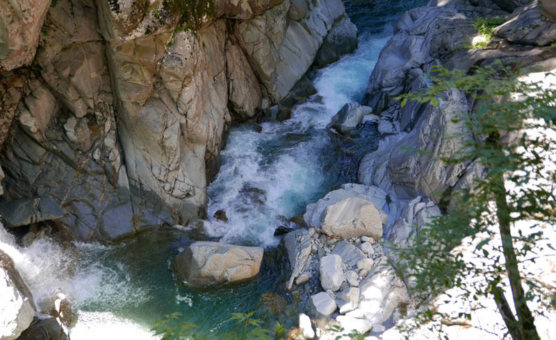
M 378 210 L 388 209 L 386 205 L 386 192 L 384 190 L 375 186 L 347 183 L 342 185 L 340 189 L 329 192 L 316 203 L 307 205 L 303 219 L 307 225 L 313 228 L 320 228 L 320 218 L 326 208 L 350 197 L 359 197 L 370 201 Z

